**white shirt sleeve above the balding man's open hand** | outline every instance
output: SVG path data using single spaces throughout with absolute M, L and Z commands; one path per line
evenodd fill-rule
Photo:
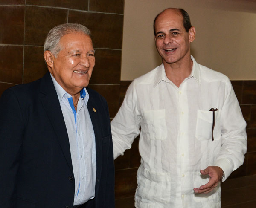
M 246 122 L 227 78 L 225 101 L 221 111 L 221 152 L 214 163 L 224 171 L 224 180 L 244 162 L 247 150 L 245 128 Z

